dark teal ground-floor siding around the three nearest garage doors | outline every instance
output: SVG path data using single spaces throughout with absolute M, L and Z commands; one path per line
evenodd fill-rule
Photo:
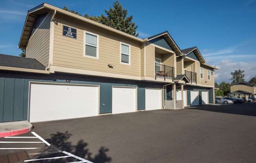
M 0 71 L 0 122 L 27 120 L 29 82 L 100 85 L 100 114 L 112 112 L 112 87 L 137 87 L 137 109 L 145 109 L 145 88 L 163 88 L 163 83 L 93 77 L 76 74 L 32 74 Z

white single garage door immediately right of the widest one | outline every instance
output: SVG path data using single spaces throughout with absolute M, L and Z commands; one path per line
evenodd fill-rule
M 112 114 L 136 111 L 136 88 L 113 87 L 112 88 Z

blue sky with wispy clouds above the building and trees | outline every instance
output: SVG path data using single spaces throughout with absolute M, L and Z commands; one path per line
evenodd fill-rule
M 2 0 L 0 53 L 18 55 L 27 10 L 44 2 L 81 14 L 100 15 L 114 0 Z M 208 64 L 217 66 L 216 82 L 230 82 L 230 71 L 256 75 L 256 0 L 119 0 L 145 38 L 169 31 L 181 49 L 197 46 Z M 150 2 L 150 3 L 149 3 Z

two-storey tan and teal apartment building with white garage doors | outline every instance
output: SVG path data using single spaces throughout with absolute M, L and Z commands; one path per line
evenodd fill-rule
M 28 11 L 18 47 L 26 58 L 0 55 L 0 122 L 214 103 L 216 68 L 167 31 L 141 39 L 44 3 Z

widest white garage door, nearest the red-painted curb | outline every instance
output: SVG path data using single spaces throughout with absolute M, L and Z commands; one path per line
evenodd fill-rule
M 98 86 L 32 83 L 29 121 L 97 116 L 98 105 Z

